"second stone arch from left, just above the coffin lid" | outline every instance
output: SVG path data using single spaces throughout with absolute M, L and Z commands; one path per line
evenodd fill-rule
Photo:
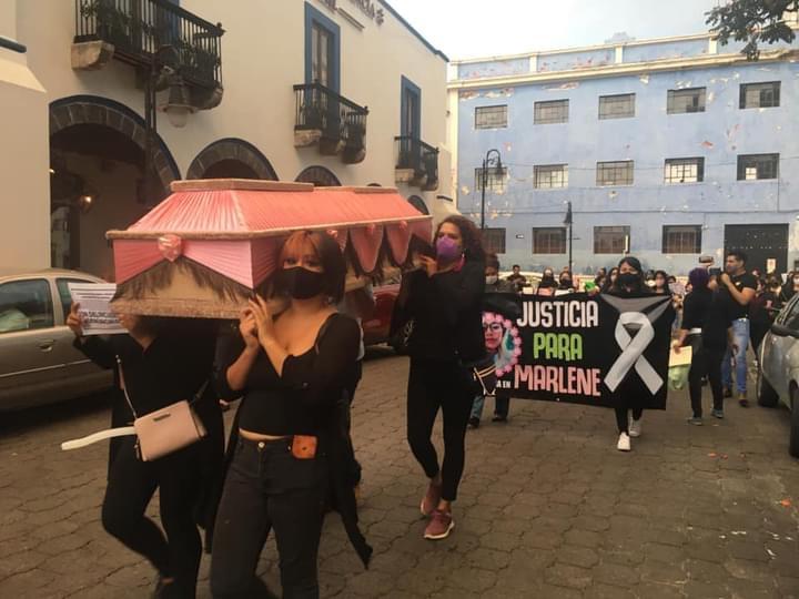
M 186 179 L 204 179 L 209 170 L 216 167 L 249 174 L 243 179 L 277 181 L 277 173 L 261 150 L 239 138 L 225 138 L 206 145 L 192 161 Z

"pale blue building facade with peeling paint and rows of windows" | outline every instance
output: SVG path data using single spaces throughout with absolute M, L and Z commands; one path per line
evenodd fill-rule
M 739 51 L 692 35 L 454 63 L 458 210 L 481 222 L 485 175 L 505 267 L 568 264 L 569 202 L 579 273 L 628 253 L 685 274 L 732 248 L 799 266 L 799 43 Z

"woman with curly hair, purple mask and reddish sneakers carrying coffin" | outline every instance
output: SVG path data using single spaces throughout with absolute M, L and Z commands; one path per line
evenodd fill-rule
M 403 278 L 395 322 L 414 321 L 409 341 L 407 438 L 429 479 L 421 510 L 429 517 L 426 539 L 453 529 L 452 504 L 464 470 L 466 425 L 475 396 L 469 363 L 485 357 L 482 298 L 485 253 L 468 219 L 449 216 L 435 235 L 435 257 Z M 444 417 L 444 460 L 431 440 L 438 412 Z

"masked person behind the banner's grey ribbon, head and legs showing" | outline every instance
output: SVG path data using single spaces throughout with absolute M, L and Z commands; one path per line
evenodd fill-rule
M 644 272 L 638 258 L 627 256 L 619 262 L 618 276 L 607 293 L 618 297 L 651 294 L 651 291 L 644 281 Z M 640 437 L 641 435 L 641 418 L 644 416 L 644 408 L 640 406 L 640 403 L 635 394 L 630 393 L 628 388 L 630 385 L 628 383 L 629 379 L 621 383 L 621 386 L 618 389 L 618 399 L 615 408 L 616 425 L 618 426 L 619 432 L 616 448 L 619 451 L 629 451 L 631 449 L 630 437 Z

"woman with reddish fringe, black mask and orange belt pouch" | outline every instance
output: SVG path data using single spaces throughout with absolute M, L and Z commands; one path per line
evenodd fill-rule
M 243 395 L 214 528 L 215 598 L 255 596 L 255 567 L 271 530 L 284 597 L 318 597 L 317 552 L 330 485 L 358 555 L 371 548 L 355 526 L 346 433 L 338 406 L 353 380 L 361 328 L 335 305 L 346 264 L 326 233 L 297 232 L 279 257 L 273 314 L 261 296 L 240 321 L 237 347 L 221 365 L 225 398 Z M 347 517 L 345 517 L 347 516 Z

